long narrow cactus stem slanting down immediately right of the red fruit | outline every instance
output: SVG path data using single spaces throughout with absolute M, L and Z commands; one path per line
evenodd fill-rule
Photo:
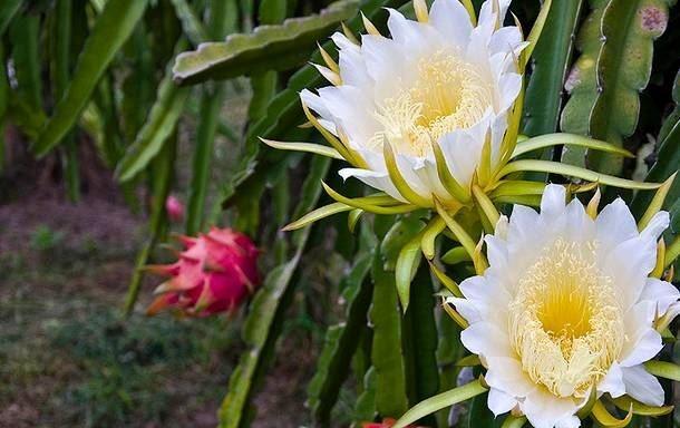
M 310 206 L 317 204 L 321 194 L 317 183 L 328 173 L 329 166 L 330 162 L 327 158 L 317 157 L 312 160 L 298 211 L 308 211 Z M 251 304 L 251 311 L 243 325 L 243 340 L 247 350 L 241 354 L 239 366 L 230 378 L 229 391 L 220 408 L 221 428 L 239 428 L 244 422 L 256 383 L 266 370 L 266 356 L 273 350 L 283 323 L 282 318 L 292 299 L 294 282 L 291 280 L 307 245 L 309 233 L 310 228 L 295 232 L 294 255 L 271 271 Z

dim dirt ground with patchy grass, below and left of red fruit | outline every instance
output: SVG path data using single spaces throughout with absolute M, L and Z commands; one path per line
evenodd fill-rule
M 240 321 L 120 317 L 145 222 L 111 195 L 0 205 L 0 427 L 214 427 Z M 289 329 L 290 330 L 290 329 Z M 289 331 L 254 426 L 304 424 L 311 347 Z M 302 342 L 301 342 L 302 341 Z

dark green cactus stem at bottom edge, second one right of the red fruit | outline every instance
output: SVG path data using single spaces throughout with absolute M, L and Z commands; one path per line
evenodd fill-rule
M 343 279 L 342 301 L 347 305 L 344 321 L 327 331 L 317 371 L 308 387 L 308 407 L 320 426 L 330 424 L 331 409 L 349 374 L 352 356 L 361 339 L 361 329 L 366 327 L 366 313 L 372 294 L 372 284 L 366 278 L 371 262 L 371 252 L 360 254 Z

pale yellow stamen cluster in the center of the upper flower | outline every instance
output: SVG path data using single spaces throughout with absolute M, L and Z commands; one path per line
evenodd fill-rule
M 426 156 L 431 142 L 459 128 L 475 125 L 494 107 L 489 82 L 472 64 L 450 52 L 438 51 L 417 65 L 410 87 L 387 98 L 376 111 L 383 130 L 371 145 L 381 149 L 389 142 L 398 153 Z

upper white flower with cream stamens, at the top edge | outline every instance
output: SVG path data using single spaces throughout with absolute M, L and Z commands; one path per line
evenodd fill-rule
M 487 1 L 473 26 L 458 0 L 435 0 L 429 17 L 420 10 L 419 21 L 390 9 L 391 38 L 370 31 L 358 46 L 342 33 L 332 36 L 340 50 L 338 72 L 319 68 L 336 86 L 318 95 L 303 90 L 301 98 L 361 159 L 363 167 L 342 169 L 342 177 L 431 206 L 433 195 L 451 198 L 438 177 L 433 144 L 464 188 L 487 138 L 492 166 L 498 163 L 508 110 L 522 88 L 517 58 L 525 46 L 517 27 L 499 28 L 508 4 Z M 385 145 L 418 201 L 390 179 Z

